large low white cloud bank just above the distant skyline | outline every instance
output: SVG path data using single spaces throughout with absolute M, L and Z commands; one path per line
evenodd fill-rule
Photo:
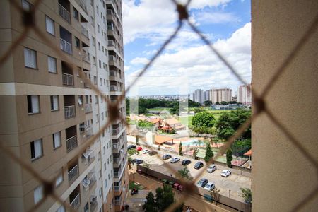
M 251 23 L 235 31 L 226 40 L 217 40 L 214 47 L 237 69 L 247 82 L 251 78 Z M 146 61 L 146 58 L 136 58 Z M 138 62 L 137 62 L 138 64 Z M 139 63 L 140 64 L 140 63 Z M 139 67 L 140 68 L 140 67 Z M 126 85 L 139 73 L 134 71 L 126 77 Z M 189 85 L 185 86 L 185 83 Z M 145 78 L 139 81 L 142 90 L 158 90 L 158 93 L 178 93 L 180 86 L 208 89 L 211 87 L 232 87 L 240 84 L 228 68 L 206 45 L 165 52 L 151 66 Z M 171 92 L 170 92 L 171 90 Z M 175 92 L 172 92 L 175 90 Z

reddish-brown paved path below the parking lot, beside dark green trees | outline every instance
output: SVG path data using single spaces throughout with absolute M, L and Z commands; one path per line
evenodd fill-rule
M 163 184 L 161 182 L 156 181 L 155 179 L 152 179 L 150 177 L 146 177 L 144 175 L 139 175 L 133 170 L 129 170 L 129 180 L 139 182 L 143 186 L 147 187 L 148 192 L 151 191 L 153 194 L 155 194 L 155 189 L 158 187 L 161 187 Z M 175 189 L 173 189 L 175 192 L 175 199 L 178 200 L 184 196 L 182 192 L 179 192 Z M 147 193 L 148 193 L 147 192 Z M 192 195 L 190 194 L 186 201 L 184 202 L 185 205 L 190 206 L 194 208 L 196 211 L 220 211 L 220 212 L 226 212 L 226 211 L 234 211 L 230 208 L 223 208 L 223 206 L 217 206 L 216 204 L 212 204 L 208 201 L 204 201 L 204 198 L 199 195 Z

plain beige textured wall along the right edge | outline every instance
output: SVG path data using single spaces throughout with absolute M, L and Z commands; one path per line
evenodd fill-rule
M 252 86 L 264 89 L 317 16 L 318 1 L 252 1 Z M 318 30 L 266 97 L 267 107 L 318 160 Z M 291 211 L 318 186 L 317 170 L 266 114 L 252 124 L 252 211 Z M 317 211 L 317 196 L 301 211 Z

